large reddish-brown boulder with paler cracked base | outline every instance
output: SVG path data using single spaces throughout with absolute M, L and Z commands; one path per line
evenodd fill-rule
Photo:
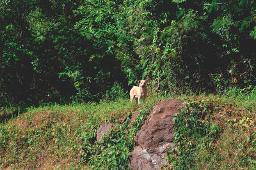
M 159 169 L 164 164 L 166 150 L 173 146 L 173 118 L 184 101 L 170 99 L 156 104 L 134 138 L 136 145 L 129 166 L 132 169 Z

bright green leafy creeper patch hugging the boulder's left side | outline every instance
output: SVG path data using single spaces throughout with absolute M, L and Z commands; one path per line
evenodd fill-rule
M 87 160 L 90 167 L 97 169 L 128 169 L 127 159 L 135 146 L 134 137 L 140 131 L 149 111 L 150 108 L 140 111 L 131 127 L 128 125 L 130 118 L 123 124 L 116 125 L 99 143 L 95 142 L 95 131 L 86 132 L 82 159 Z

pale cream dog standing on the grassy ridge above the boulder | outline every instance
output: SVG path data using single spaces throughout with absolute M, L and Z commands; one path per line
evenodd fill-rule
M 140 83 L 139 87 L 134 86 L 130 90 L 130 101 L 132 102 L 133 98 L 136 98 L 137 104 L 140 104 L 140 99 L 145 101 L 147 97 L 147 80 L 139 80 Z

